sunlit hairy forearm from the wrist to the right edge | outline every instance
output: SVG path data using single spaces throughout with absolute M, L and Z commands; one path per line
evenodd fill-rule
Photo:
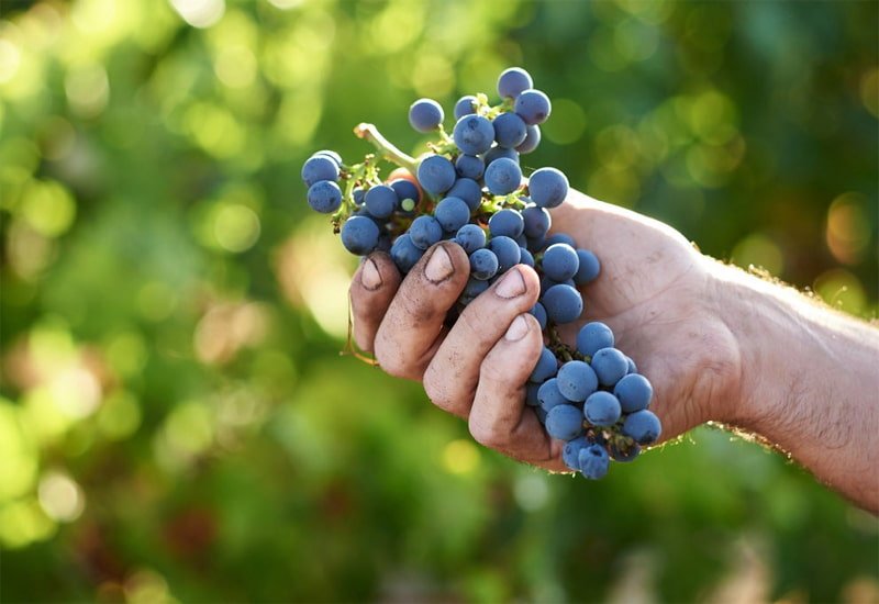
M 738 269 L 712 273 L 742 368 L 722 421 L 879 511 L 879 329 Z

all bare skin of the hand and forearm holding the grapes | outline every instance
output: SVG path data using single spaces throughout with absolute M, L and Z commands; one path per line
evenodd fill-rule
M 879 331 L 712 260 L 668 225 L 576 191 L 552 215 L 602 261 L 583 290 L 583 317 L 561 336 L 572 344 L 596 320 L 613 329 L 654 385 L 664 439 L 709 421 L 747 430 L 879 510 Z M 563 443 L 524 404 L 543 345 L 527 314 L 537 275 L 514 267 L 449 328 L 444 318 L 468 272 L 467 255 L 450 242 L 429 249 L 404 279 L 386 254 L 369 256 L 351 286 L 355 340 L 391 376 L 422 381 L 477 441 L 565 471 Z

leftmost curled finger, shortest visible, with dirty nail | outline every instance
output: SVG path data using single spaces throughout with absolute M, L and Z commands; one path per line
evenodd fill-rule
M 400 287 L 400 271 L 383 251 L 367 256 L 354 273 L 348 289 L 354 315 L 354 342 L 371 353 L 376 332 Z

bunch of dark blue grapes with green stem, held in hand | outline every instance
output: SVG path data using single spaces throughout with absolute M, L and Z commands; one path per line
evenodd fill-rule
M 518 67 L 501 74 L 498 93 L 501 101 L 494 105 L 482 93 L 459 99 L 450 136 L 439 103 L 412 103 L 412 127 L 437 135 L 418 159 L 374 125 L 359 124 L 355 134 L 372 143 L 379 155 L 346 165 L 335 152 L 315 153 L 302 167 L 308 202 L 332 214 L 348 251 L 388 251 L 402 273 L 441 241 L 460 245 L 470 259 L 470 276 L 449 322 L 515 265 L 534 268 L 541 295 L 531 314 L 544 331 L 545 346 L 530 377 L 526 403 L 553 438 L 566 441 L 565 463 L 599 479 L 611 459 L 631 461 L 659 437 L 659 420 L 647 409 L 653 388 L 634 361 L 614 348 L 605 324 L 586 324 L 576 348 L 559 338 L 557 326 L 582 315 L 578 288 L 597 279 L 601 266 L 570 236 L 548 235 L 548 210 L 568 194 L 565 175 L 546 167 L 523 179 L 520 155 L 541 142 L 539 125 L 552 111 L 548 97 Z M 404 169 L 407 177 L 382 181 L 382 159 Z

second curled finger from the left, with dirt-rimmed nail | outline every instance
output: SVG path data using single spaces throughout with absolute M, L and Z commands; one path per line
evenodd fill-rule
M 385 371 L 421 379 L 469 273 L 467 254 L 452 242 L 424 254 L 400 284 L 376 333 L 376 358 Z

